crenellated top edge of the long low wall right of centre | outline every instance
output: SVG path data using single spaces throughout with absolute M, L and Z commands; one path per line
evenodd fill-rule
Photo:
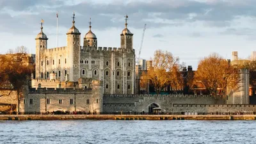
M 202 97 L 212 97 L 212 95 L 104 95 L 104 97 L 141 97 L 141 99 L 143 97 L 155 97 L 155 98 L 159 98 L 159 97 L 187 97 L 187 98 L 202 98 Z

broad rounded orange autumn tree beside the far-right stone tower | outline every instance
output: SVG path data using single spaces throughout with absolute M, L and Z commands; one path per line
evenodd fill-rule
M 194 83 L 200 81 L 205 88 L 216 98 L 224 95 L 227 87 L 236 88 L 239 83 L 239 74 L 230 61 L 221 58 L 218 54 L 211 54 L 200 60 L 195 72 Z

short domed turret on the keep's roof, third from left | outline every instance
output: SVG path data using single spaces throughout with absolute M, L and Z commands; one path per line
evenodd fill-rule
M 92 32 L 92 22 L 90 19 L 89 22 L 89 31 L 84 35 L 84 47 L 97 47 L 97 37 L 96 35 Z

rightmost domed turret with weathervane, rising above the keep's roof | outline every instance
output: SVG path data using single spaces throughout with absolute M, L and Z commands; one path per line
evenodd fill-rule
M 128 15 L 125 16 L 125 29 L 121 33 L 121 48 L 132 49 L 133 33 L 127 28 Z

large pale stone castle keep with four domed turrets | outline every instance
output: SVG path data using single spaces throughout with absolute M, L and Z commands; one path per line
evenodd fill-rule
M 81 43 L 83 38 L 83 45 Z M 88 79 L 102 81 L 103 93 L 134 94 L 135 50 L 133 34 L 125 28 L 120 34 L 120 48 L 98 47 L 97 36 L 89 31 L 83 37 L 75 26 L 67 31 L 67 46 L 48 48 L 47 36 L 41 31 L 36 40 L 36 72 L 32 79 L 34 88 L 90 88 Z M 86 80 L 87 79 L 87 80 Z

